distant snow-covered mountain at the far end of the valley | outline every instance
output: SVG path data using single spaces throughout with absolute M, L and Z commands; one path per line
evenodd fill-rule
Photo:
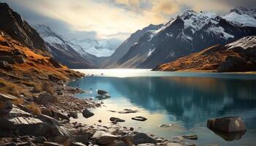
M 115 52 L 115 48 L 110 45 L 110 42 L 104 39 L 72 39 L 70 45 L 82 55 L 90 53 L 97 57 L 105 57 Z

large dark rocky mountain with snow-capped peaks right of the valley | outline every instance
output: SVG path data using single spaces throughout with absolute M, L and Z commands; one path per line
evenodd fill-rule
M 116 64 L 120 68 L 154 68 L 212 45 L 255 35 L 255 24 L 255 9 L 238 7 L 224 16 L 189 10 L 143 34 Z

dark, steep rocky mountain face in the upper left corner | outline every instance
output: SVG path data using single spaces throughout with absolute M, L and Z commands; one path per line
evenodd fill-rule
M 0 3 L 0 30 L 26 47 L 36 50 L 37 53 L 50 55 L 44 40 L 39 37 L 37 31 L 5 3 Z

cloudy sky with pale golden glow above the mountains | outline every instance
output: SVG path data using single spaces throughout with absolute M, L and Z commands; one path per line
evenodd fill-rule
M 255 0 L 0 0 L 32 25 L 45 24 L 62 36 L 124 40 L 151 23 L 166 23 L 188 9 L 220 14 Z

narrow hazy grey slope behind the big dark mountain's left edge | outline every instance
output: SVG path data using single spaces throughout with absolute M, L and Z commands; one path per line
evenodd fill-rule
M 126 39 L 111 55 L 107 61 L 105 61 L 102 64 L 102 67 L 108 67 L 108 68 L 114 68 L 117 67 L 117 61 L 122 58 L 128 51 L 129 48 L 133 45 L 136 45 L 139 42 L 140 37 L 142 37 L 144 34 L 151 34 L 152 31 L 156 31 L 157 29 L 161 28 L 163 25 L 149 25 L 146 28 L 143 28 L 142 30 L 136 31 L 134 34 L 132 34 L 128 39 Z

